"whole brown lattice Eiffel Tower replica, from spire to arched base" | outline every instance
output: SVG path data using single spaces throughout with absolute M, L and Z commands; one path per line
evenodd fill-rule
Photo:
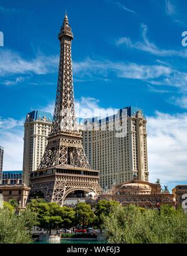
M 47 202 L 61 206 L 65 197 L 75 190 L 95 192 L 95 195 L 102 191 L 99 171 L 90 169 L 75 117 L 72 39 L 72 29 L 65 12 L 59 34 L 59 77 L 52 128 L 39 169 L 31 172 L 29 180 L 32 197 L 42 192 Z

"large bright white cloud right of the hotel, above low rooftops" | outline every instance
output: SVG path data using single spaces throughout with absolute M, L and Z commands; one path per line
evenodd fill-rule
M 187 114 L 156 112 L 147 120 L 150 181 L 157 177 L 163 184 L 186 181 Z

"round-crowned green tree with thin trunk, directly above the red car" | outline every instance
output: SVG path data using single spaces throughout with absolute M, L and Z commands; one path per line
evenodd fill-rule
M 82 231 L 84 232 L 85 225 L 92 224 L 95 218 L 89 204 L 79 202 L 75 207 L 75 220 L 78 224 L 82 224 Z

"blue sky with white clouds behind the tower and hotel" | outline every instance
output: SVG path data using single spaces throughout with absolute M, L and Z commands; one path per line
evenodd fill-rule
M 150 181 L 187 184 L 185 0 L 0 0 L 4 169 L 22 168 L 27 112 L 53 110 L 65 9 L 74 33 L 76 102 L 83 109 L 143 109 Z

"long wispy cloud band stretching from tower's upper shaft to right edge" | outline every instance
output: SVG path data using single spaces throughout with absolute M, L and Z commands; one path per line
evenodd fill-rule
M 159 63 L 159 62 L 158 62 Z M 141 65 L 133 62 L 112 62 L 107 60 L 93 60 L 90 58 L 74 63 L 76 77 L 121 77 L 137 79 L 155 86 L 176 87 L 179 91 L 187 91 L 187 72 L 181 72 L 165 64 Z

